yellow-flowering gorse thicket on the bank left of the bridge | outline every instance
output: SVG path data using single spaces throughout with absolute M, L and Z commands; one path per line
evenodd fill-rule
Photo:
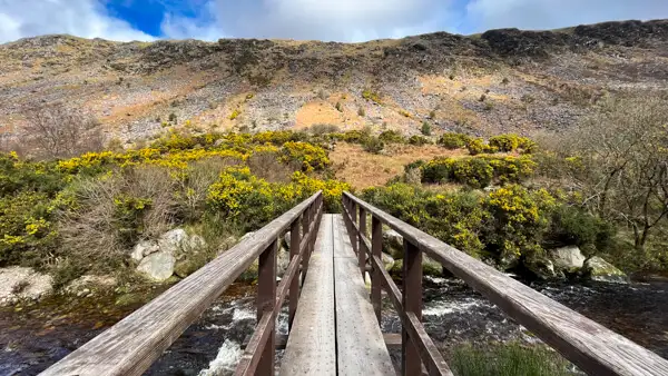
M 0 266 L 50 271 L 58 286 L 87 273 L 130 278 L 129 250 L 181 227 L 208 245 L 183 260 L 195 270 L 230 235 L 264 226 L 317 190 L 327 211 L 340 210 L 351 188 L 327 178 L 325 141 L 281 131 L 170 131 L 136 150 L 52 161 L 0 155 Z

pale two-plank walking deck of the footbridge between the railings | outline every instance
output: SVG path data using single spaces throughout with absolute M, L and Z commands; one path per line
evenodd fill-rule
M 324 215 L 281 375 L 394 375 L 341 215 Z

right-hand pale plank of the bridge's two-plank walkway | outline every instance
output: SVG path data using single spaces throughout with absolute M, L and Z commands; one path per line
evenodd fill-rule
M 341 216 L 334 218 L 334 285 L 338 375 L 394 375 Z

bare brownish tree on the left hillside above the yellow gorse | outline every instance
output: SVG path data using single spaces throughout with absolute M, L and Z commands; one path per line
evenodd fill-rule
M 27 138 L 41 158 L 70 158 L 102 148 L 99 122 L 61 103 L 23 111 Z

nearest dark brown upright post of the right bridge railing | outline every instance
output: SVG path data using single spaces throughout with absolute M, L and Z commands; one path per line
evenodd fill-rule
M 404 311 L 413 313 L 422 320 L 422 251 L 405 238 L 402 300 Z M 402 328 L 401 339 L 403 375 L 421 375 L 422 360 L 414 344 L 419 338 L 411 339 L 406 328 Z

